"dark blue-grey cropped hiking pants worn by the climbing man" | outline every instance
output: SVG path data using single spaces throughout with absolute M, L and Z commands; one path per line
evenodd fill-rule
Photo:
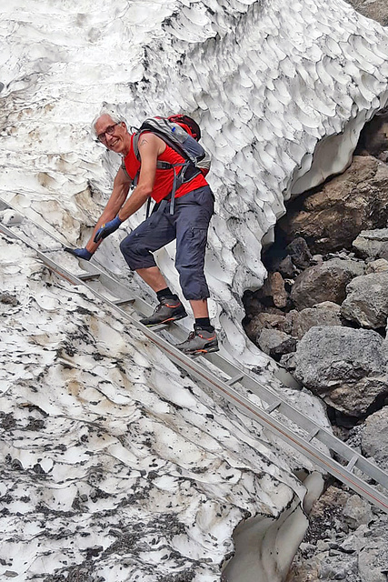
M 207 299 L 204 252 L 209 222 L 214 213 L 214 197 L 209 186 L 175 198 L 174 215 L 170 203 L 162 200 L 154 212 L 124 238 L 120 250 L 129 268 L 156 266 L 152 253 L 176 238 L 175 267 L 184 297 Z

